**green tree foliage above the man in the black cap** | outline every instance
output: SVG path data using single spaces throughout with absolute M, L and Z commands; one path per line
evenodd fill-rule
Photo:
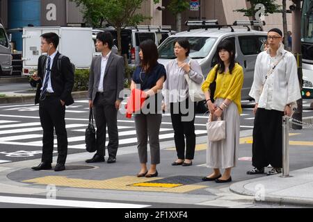
M 264 8 L 264 15 L 268 16 L 268 14 L 273 14 L 275 12 L 281 12 L 281 6 L 276 4 L 276 0 L 246 0 L 247 1 L 247 9 L 241 8 L 234 10 L 234 12 L 242 12 L 244 13 L 243 16 L 250 17 L 252 20 L 257 20 L 256 15 L 258 15 L 259 7 L 256 7 L 257 4 L 263 4 Z M 258 29 L 254 27 L 254 29 Z

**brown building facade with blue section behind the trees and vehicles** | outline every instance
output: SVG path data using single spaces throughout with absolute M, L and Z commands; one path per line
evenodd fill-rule
M 147 17 L 143 24 L 170 25 L 176 29 L 176 19 L 168 10 L 171 0 L 161 0 L 154 4 L 153 0 L 146 0 L 138 9 Z M 248 19 L 243 13 L 234 12 L 239 8 L 247 8 L 246 0 L 199 0 L 198 11 L 186 10 L 182 13 L 182 30 L 186 30 L 186 20 L 218 19 L 219 24 L 232 24 L 237 19 Z M 282 4 L 282 0 L 277 1 Z M 287 8 L 291 1 L 287 1 Z M 23 26 L 83 26 L 81 8 L 70 0 L 0 0 L 1 23 L 7 29 Z M 273 27 L 282 29 L 282 14 L 275 13 L 264 17 L 266 26 L 264 31 Z M 288 30 L 291 30 L 291 14 L 287 14 Z M 13 41 L 17 50 L 22 50 L 22 33 L 13 33 Z

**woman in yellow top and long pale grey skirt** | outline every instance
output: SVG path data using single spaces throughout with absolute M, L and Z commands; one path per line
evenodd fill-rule
M 203 181 L 231 182 L 232 167 L 236 167 L 239 148 L 239 129 L 241 110 L 241 88 L 243 85 L 243 69 L 234 61 L 235 49 L 230 40 L 223 40 L 216 49 L 218 64 L 211 69 L 202 84 L 209 112 L 214 119 L 221 117 L 226 121 L 226 138 L 218 142 L 209 142 L 207 148 L 207 167 L 213 173 L 202 178 Z M 209 85 L 216 76 L 214 103 L 210 99 Z M 223 176 L 220 168 L 225 169 Z

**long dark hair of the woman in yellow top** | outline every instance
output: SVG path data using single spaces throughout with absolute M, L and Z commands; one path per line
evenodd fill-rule
M 230 53 L 230 74 L 232 74 L 232 69 L 234 69 L 235 66 L 235 48 L 234 48 L 234 43 L 230 40 L 223 40 L 220 42 L 217 46 L 216 49 L 216 61 L 218 63 L 218 73 L 222 74 L 225 71 L 225 64 L 224 62 L 220 59 L 220 55 L 218 54 L 220 50 L 226 50 L 228 53 Z

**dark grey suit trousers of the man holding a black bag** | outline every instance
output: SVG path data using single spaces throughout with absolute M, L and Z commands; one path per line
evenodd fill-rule
M 116 157 L 118 153 L 118 110 L 115 109 L 115 104 L 106 104 L 104 95 L 97 93 L 93 102 L 93 114 L 95 115 L 95 123 L 97 126 L 97 153 L 104 157 L 106 155 L 106 126 L 108 126 L 109 157 Z

